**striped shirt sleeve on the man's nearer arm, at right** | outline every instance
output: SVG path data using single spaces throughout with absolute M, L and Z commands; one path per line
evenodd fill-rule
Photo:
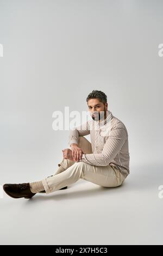
M 108 135 L 102 153 L 83 154 L 80 162 L 89 163 L 95 166 L 108 166 L 120 151 L 122 145 L 127 139 L 127 133 L 124 128 L 116 127 Z

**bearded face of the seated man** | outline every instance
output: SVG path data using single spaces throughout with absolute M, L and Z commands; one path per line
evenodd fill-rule
M 87 102 L 87 106 L 89 108 L 90 115 L 93 120 L 95 121 L 99 121 L 101 119 L 104 120 L 105 114 L 107 111 L 107 106 L 108 106 L 107 103 L 105 103 L 104 105 L 104 103 L 99 101 L 98 99 L 90 99 Z

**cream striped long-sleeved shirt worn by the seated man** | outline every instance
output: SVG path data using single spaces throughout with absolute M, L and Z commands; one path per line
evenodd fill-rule
M 94 166 L 113 166 L 126 177 L 129 174 L 128 132 L 121 120 L 111 111 L 106 119 L 93 119 L 70 130 L 68 144 L 78 144 L 79 136 L 90 134 L 92 154 L 83 154 L 80 161 Z

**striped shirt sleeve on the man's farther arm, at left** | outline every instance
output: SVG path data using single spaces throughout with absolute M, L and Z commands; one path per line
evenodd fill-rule
M 80 126 L 74 127 L 74 129 L 70 130 L 68 145 L 71 145 L 72 143 L 78 144 L 79 136 L 86 136 L 89 134 L 90 134 L 89 121 L 86 121 L 86 123 Z

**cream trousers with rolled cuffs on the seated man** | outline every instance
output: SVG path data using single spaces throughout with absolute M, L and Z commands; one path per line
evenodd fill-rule
M 83 136 L 79 136 L 78 147 L 82 148 L 85 154 L 92 153 L 91 143 Z M 112 166 L 93 166 L 85 162 L 74 162 L 62 159 L 58 166 L 64 170 L 58 170 L 54 175 L 41 180 L 46 194 L 59 190 L 77 182 L 79 179 L 90 181 L 103 187 L 121 186 L 125 180 L 118 169 Z

